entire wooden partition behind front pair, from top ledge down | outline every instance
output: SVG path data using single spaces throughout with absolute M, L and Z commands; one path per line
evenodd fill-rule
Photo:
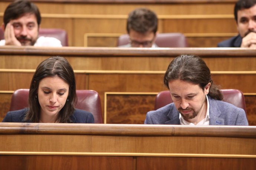
M 245 93 L 249 123 L 256 125 L 256 54 L 255 50 L 243 48 L 164 48 L 149 51 L 119 48 L 0 47 L 0 79 L 5 82 L 0 84 L 0 91 L 3 92 L 0 95 L 4 99 L 0 105 L 1 118 L 9 109 L 13 91 L 29 88 L 37 65 L 50 56 L 60 55 L 68 59 L 75 70 L 77 89 L 95 90 L 99 93 L 101 105 L 104 106 L 104 122 L 143 123 L 145 113 L 154 110 L 155 95 L 166 90 L 163 76 L 169 62 L 180 54 L 201 56 L 209 66 L 213 81 L 217 85 L 222 89 L 239 89 Z M 118 94 L 112 94 L 115 92 Z M 120 117 L 120 113 L 115 111 L 111 99 L 119 98 L 118 101 L 124 101 L 127 96 L 132 96 L 129 95 L 131 93 L 147 93 L 132 94 L 136 96 L 132 100 L 142 99 L 143 96 L 148 104 L 138 101 L 144 108 L 131 107 L 132 103 L 126 101 L 128 104 L 122 108 L 122 112 L 123 115 L 131 116 L 131 119 L 115 119 L 115 116 Z M 139 117 L 138 122 L 129 115 L 128 108 L 136 108 L 132 112 Z

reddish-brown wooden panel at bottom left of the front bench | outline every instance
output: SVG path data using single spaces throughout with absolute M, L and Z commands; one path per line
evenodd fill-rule
M 1 155 L 1 169 L 8 170 L 133 170 L 133 158 L 117 156 Z

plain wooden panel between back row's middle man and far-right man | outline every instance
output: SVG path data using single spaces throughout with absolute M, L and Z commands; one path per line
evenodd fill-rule
M 237 33 L 233 18 L 230 19 L 165 19 L 163 32 L 180 33 Z

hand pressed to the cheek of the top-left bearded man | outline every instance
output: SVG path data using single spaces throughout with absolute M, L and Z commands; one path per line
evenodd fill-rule
M 21 46 L 20 41 L 17 40 L 14 34 L 12 23 L 8 23 L 4 30 L 5 45 L 18 45 Z

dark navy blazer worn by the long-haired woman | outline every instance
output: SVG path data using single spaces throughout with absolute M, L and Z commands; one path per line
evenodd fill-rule
M 26 112 L 27 108 L 7 112 L 3 122 L 29 122 L 24 120 Z M 92 113 L 80 109 L 75 109 L 75 112 L 70 116 L 70 119 L 72 120 L 72 123 L 94 123 Z

